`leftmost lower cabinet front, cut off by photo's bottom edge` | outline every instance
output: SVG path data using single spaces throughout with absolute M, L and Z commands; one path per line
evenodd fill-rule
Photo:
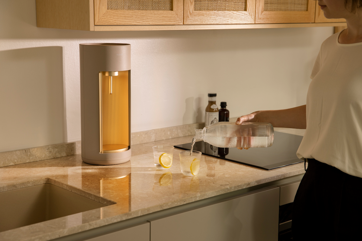
M 150 241 L 150 223 L 143 222 L 132 227 L 114 231 L 86 241 Z

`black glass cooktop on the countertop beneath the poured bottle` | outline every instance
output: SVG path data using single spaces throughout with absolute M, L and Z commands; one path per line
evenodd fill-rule
M 302 160 L 296 156 L 296 151 L 298 150 L 300 142 L 302 142 L 302 138 L 303 137 L 299 135 L 274 132 L 273 145 L 266 148 L 249 148 L 248 150 L 218 148 L 209 143 L 198 141 L 194 145 L 194 150 L 201 151 L 204 155 L 270 170 L 302 162 Z M 190 150 L 191 143 L 176 145 L 175 147 Z

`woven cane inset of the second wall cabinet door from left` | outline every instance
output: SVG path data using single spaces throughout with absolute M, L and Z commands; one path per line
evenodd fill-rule
M 246 11 L 247 0 L 194 0 L 194 11 Z

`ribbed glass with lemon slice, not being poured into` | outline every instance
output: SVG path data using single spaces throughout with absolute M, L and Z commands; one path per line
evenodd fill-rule
M 154 146 L 152 149 L 155 167 L 159 170 L 170 168 L 172 165 L 174 147 L 170 145 L 162 145 Z

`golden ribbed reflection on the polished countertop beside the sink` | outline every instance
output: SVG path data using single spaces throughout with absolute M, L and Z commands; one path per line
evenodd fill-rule
M 101 197 L 117 202 L 117 204 L 102 207 L 102 219 L 131 211 L 130 175 L 115 179 L 102 178 L 100 181 Z

